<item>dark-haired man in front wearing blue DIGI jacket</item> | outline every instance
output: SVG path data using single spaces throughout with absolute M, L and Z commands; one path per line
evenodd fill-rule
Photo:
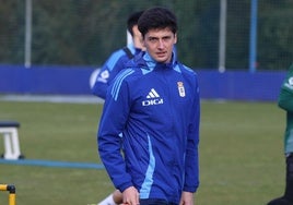
M 197 74 L 174 56 L 173 12 L 149 9 L 138 27 L 146 51 L 128 63 L 107 92 L 99 157 L 124 204 L 192 205 L 199 185 Z

